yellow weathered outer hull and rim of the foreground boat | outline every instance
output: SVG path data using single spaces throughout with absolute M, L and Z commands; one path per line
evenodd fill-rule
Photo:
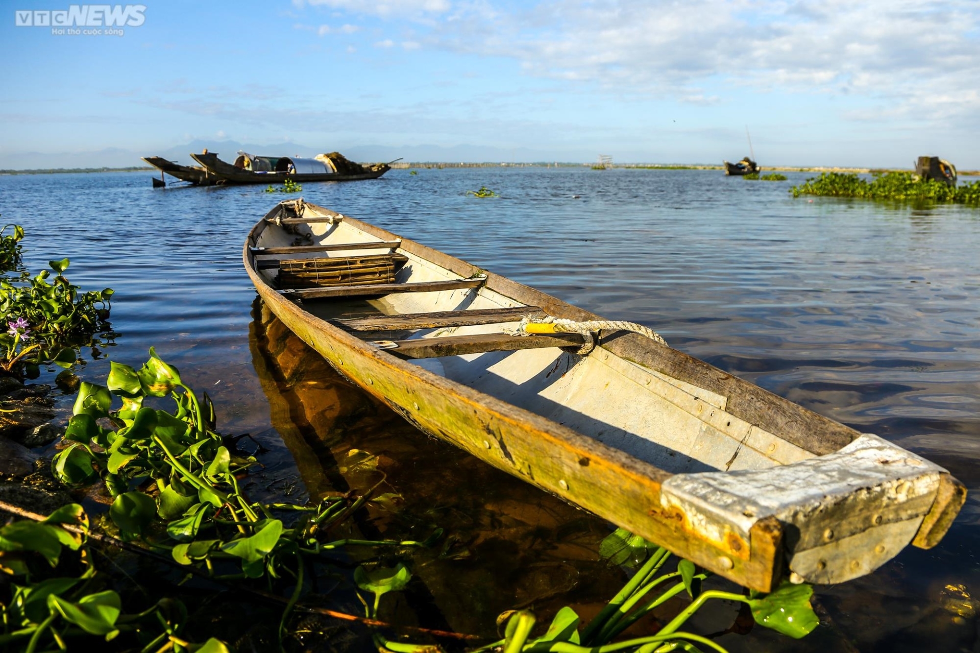
M 696 380 L 703 396 L 717 392 L 726 400 L 718 409 L 697 396 L 675 392 L 678 401 L 689 402 L 686 410 L 691 415 L 704 411 L 703 419 L 727 419 L 728 427 L 748 418 L 768 430 L 780 429 L 781 441 L 806 449 L 810 460 L 743 473 L 671 474 L 596 437 L 433 374 L 319 319 L 260 274 L 256 257 L 262 252 L 253 247 L 280 211 L 273 209 L 253 228 L 243 250 L 245 267 L 272 313 L 340 374 L 422 431 L 742 585 L 770 591 L 784 572 L 815 582 L 861 576 L 913 538 L 918 546 L 935 544 L 962 504 L 962 485 L 928 461 L 809 413 L 681 352 L 652 347 L 635 334 L 604 332 L 600 347 L 590 356 L 610 359 L 613 355 L 652 374 Z M 382 241 L 398 237 L 367 223 L 343 220 Z M 549 315 L 598 319 L 411 240 L 401 239 L 398 250 L 461 278 L 486 274 L 488 292 L 540 307 Z M 747 424 L 746 439 L 757 432 L 753 428 Z M 883 460 L 888 463 L 884 475 L 871 469 L 885 465 Z M 857 468 L 865 463 L 870 472 L 861 476 L 863 468 Z M 849 466 L 856 468 L 853 473 Z M 858 491 L 853 483 L 827 481 L 842 475 L 849 483 L 866 486 Z M 794 493 L 794 478 L 812 491 Z M 821 540 L 828 529 L 834 534 Z M 784 569 L 785 559 L 788 569 Z

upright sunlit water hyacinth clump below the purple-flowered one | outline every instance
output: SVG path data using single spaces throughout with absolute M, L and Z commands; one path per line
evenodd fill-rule
M 101 480 L 112 497 L 109 518 L 123 539 L 141 540 L 179 565 L 225 581 L 291 585 L 280 636 L 304 589 L 305 558 L 347 546 L 430 546 L 440 537 L 436 529 L 425 541 L 324 539 L 369 495 L 314 505 L 251 500 L 239 477 L 257 460 L 216 431 L 207 393 L 197 397 L 152 348 L 139 370 L 111 365 L 105 385 L 81 383 L 64 448 L 52 461 L 54 476 L 73 487 Z M 150 405 L 165 397 L 174 402 L 172 411 Z

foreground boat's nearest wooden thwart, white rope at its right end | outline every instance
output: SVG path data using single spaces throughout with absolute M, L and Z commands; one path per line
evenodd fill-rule
M 516 351 L 542 347 L 575 347 L 584 343 L 580 333 L 554 335 L 509 335 L 507 333 L 477 333 L 474 335 L 445 335 L 414 340 L 381 340 L 378 346 L 402 358 L 439 358 L 483 354 L 489 351 Z M 378 344 L 378 343 L 375 343 Z

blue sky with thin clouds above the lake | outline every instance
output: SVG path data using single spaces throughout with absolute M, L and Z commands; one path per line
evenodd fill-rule
M 69 5 L 4 2 L 0 168 L 223 139 L 718 163 L 746 126 L 763 165 L 980 168 L 975 0 L 144 4 L 116 36 L 16 26 Z

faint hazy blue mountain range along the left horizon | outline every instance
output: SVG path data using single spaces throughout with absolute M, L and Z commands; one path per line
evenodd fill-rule
M 221 155 L 230 161 L 238 150 L 251 154 L 268 156 L 304 156 L 314 157 L 324 152 L 339 151 L 348 159 L 359 162 L 388 162 L 401 157 L 412 162 L 544 162 L 555 161 L 554 153 L 534 151 L 528 148 L 506 149 L 482 145 L 456 145 L 443 147 L 440 145 L 407 145 L 394 147 L 387 145 L 364 145 L 354 147 L 312 146 L 299 143 L 271 143 L 257 145 L 242 143 L 236 140 L 197 139 L 183 145 L 177 145 L 166 150 L 140 151 L 124 150 L 118 147 L 106 148 L 90 152 L 42 153 L 21 152 L 0 154 L 0 169 L 27 170 L 42 168 L 125 168 L 143 164 L 140 157 L 158 156 L 170 159 L 179 164 L 192 165 L 194 162 L 188 156 L 191 152 L 201 152 L 208 148 L 211 152 Z M 557 158 L 563 162 L 586 163 L 595 160 L 595 155 L 586 153 L 564 153 Z

